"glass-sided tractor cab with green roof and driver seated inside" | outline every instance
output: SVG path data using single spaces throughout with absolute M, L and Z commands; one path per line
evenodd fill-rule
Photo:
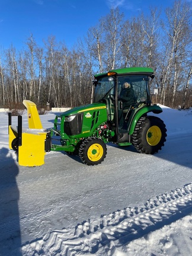
M 149 81 L 153 77 L 151 68 L 124 68 L 95 75 L 94 102 L 106 104 L 108 122 L 116 127 L 117 135 L 129 133 L 136 112 L 151 105 Z M 117 136 L 119 140 L 127 141 L 127 136 Z

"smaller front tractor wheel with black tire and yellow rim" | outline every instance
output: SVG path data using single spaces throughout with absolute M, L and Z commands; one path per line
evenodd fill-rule
M 84 164 L 98 165 L 104 161 L 107 155 L 107 147 L 103 140 L 97 137 L 88 137 L 79 148 L 79 157 Z

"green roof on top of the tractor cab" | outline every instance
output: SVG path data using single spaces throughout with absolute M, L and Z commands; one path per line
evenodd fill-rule
M 113 69 L 111 71 L 105 73 L 99 73 L 95 75 L 95 78 L 99 78 L 100 76 L 110 75 L 108 73 L 114 72 L 113 75 L 153 75 L 152 68 L 142 68 L 142 67 L 133 67 L 133 68 L 121 68 L 121 69 Z

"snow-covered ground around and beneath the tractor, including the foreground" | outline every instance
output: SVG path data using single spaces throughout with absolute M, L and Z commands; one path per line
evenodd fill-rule
M 192 110 L 162 108 L 162 151 L 110 144 L 94 167 L 61 152 L 20 167 L 0 113 L 0 255 L 192 255 Z

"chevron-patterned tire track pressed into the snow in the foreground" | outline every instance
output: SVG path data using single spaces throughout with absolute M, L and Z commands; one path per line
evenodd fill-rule
M 23 255 L 111 255 L 114 248 L 162 228 L 191 212 L 192 184 L 149 199 L 143 207 L 127 207 L 83 222 L 75 229 L 51 229 L 25 244 Z

